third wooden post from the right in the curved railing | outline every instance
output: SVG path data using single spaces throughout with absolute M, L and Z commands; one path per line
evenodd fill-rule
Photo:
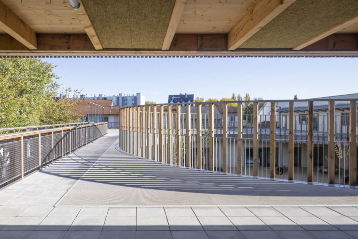
M 313 101 L 308 102 L 307 182 L 313 182 Z

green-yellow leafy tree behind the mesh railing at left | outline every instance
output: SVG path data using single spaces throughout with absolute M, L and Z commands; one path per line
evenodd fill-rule
M 1 128 L 62 122 L 56 121 L 56 112 L 67 113 L 72 104 L 55 101 L 59 84 L 53 68 L 37 58 L 0 59 Z M 51 111 L 54 108 L 61 110 Z M 73 114 L 69 116 L 66 123 L 76 121 Z

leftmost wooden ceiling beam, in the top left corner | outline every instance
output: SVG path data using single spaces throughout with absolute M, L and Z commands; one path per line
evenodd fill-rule
M 37 49 L 36 33 L 0 1 L 0 28 L 30 50 Z

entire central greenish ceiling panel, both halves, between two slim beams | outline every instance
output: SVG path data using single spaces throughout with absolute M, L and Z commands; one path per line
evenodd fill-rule
M 104 48 L 161 49 L 175 0 L 82 0 Z

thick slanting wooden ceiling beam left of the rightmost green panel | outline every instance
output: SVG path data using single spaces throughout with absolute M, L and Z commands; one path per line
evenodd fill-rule
M 258 0 L 227 34 L 228 50 L 235 50 L 296 0 Z

